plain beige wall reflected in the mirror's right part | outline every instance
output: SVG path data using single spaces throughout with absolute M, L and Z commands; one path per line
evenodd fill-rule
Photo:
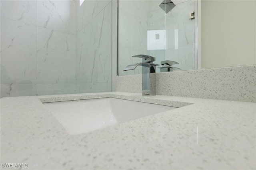
M 256 64 L 256 1 L 202 0 L 202 68 Z

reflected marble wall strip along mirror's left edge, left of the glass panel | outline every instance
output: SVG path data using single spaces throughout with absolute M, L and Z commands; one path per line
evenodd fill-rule
M 129 64 L 141 62 L 133 55 L 147 54 L 147 12 L 150 1 L 121 0 L 118 2 L 118 75 L 142 73 L 141 67 L 123 71 Z

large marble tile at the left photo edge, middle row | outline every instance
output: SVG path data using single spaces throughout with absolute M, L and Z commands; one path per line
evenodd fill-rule
M 36 83 L 35 70 L 36 26 L 1 18 L 1 83 Z

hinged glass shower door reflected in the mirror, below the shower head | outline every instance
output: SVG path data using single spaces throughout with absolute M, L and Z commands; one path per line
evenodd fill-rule
M 197 69 L 196 22 L 189 19 L 195 7 L 196 1 L 189 0 L 176 4 L 167 14 L 161 8 L 148 12 L 148 55 L 156 57 L 155 63 L 171 60 L 182 70 Z

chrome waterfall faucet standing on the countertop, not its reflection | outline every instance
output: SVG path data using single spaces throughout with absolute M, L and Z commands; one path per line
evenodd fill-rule
M 156 58 L 149 55 L 134 55 L 132 57 L 142 58 L 141 63 L 128 65 L 124 71 L 134 70 L 138 65 L 142 66 L 142 95 L 156 95 L 156 75 L 150 77 L 150 73 L 156 73 Z M 153 85 L 151 85 L 151 83 Z

